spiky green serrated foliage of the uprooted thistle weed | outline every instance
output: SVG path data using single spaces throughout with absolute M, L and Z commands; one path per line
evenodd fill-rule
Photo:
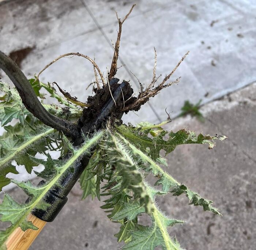
M 55 105 L 43 104 L 51 114 L 64 116 L 65 119 L 74 119 L 82 114 L 81 109 L 61 98 L 49 83 L 47 85 L 39 80 L 34 81 L 34 79 L 30 82 L 37 96 L 44 98 L 44 95 L 40 93 L 40 90 L 44 88 L 52 97 L 67 106 L 66 109 L 62 109 Z M 74 149 L 65 136 L 59 135 L 56 137 L 57 140 L 54 136 L 50 136 L 44 140 L 36 140 L 33 147 L 31 147 L 32 144 L 24 147 L 24 143 L 26 144 L 39 134 L 40 127 L 38 125 L 42 123 L 26 110 L 15 89 L 1 83 L 0 89 L 5 92 L 5 95 L 0 98 L 0 121 L 6 125 L 8 121 L 16 117 L 20 120 L 20 123 L 14 126 L 5 126 L 6 132 L 0 136 L 0 185 L 10 182 L 5 175 L 15 169 L 8 165 L 11 159 L 15 159 L 18 164 L 24 164 L 28 172 L 31 172 L 34 164 L 44 164 L 45 169 L 38 173 L 38 176 L 46 179 L 46 182 L 37 187 L 30 182 L 13 181 L 30 196 L 30 201 L 27 204 L 18 204 L 11 197 L 4 197 L 4 201 L 0 205 L 0 213 L 2 209 L 0 220 L 12 220 L 11 223 L 15 223 L 7 230 L 0 231 L 0 245 L 2 245 L 8 235 L 18 226 L 23 230 L 36 229 L 31 222 L 26 220 L 27 214 L 34 207 L 46 210 L 50 206 L 42 199 L 45 193 L 54 185 L 59 185 L 58 179 L 66 173 L 65 171 L 73 170 L 72 164 L 86 153 L 89 146 L 85 145 Z M 209 148 L 212 148 L 214 146 L 212 139 L 223 140 L 226 137 L 196 135 L 194 132 L 186 130 L 176 133 L 167 132 L 161 127 L 164 123 L 157 125 L 140 123 L 137 124 L 137 127 L 122 125 L 117 127 L 119 134 L 111 127 L 108 135 L 97 145 L 89 165 L 80 177 L 83 198 L 88 195 L 92 197 L 97 195 L 98 199 L 108 196 L 105 198 L 105 205 L 102 208 L 108 209 L 106 212 L 112 221 L 121 223 L 120 231 L 115 236 L 118 238 L 118 242 L 128 243 L 123 249 L 153 250 L 156 246 L 166 250 L 181 249 L 178 242 L 170 238 L 167 230 L 168 227 L 182 223 L 182 221 L 170 219 L 158 209 L 155 202 L 155 197 L 158 195 L 165 195 L 169 192 L 172 192 L 173 195 L 184 193 L 190 200 L 190 204 L 201 205 L 204 210 L 219 213 L 216 208 L 212 207 L 212 201 L 200 197 L 184 184 L 178 183 L 155 162 L 166 165 L 165 159 L 159 155 L 162 149 L 167 154 L 172 152 L 177 145 L 188 143 L 207 143 Z M 98 139 L 101 136 L 98 136 Z M 122 136 L 125 137 L 124 140 Z M 91 145 L 95 145 L 98 139 L 94 139 Z M 56 146 L 53 146 L 54 142 Z M 20 147 L 22 150 L 17 151 Z M 53 160 L 50 155 L 46 161 L 34 157 L 37 152 L 46 155 L 46 150 L 61 150 L 61 159 L 64 158 L 65 162 L 64 160 Z M 65 158 L 70 151 L 72 157 Z M 6 159 L 8 160 L 6 161 Z M 4 168 L 2 168 L 3 166 Z M 155 184 L 162 185 L 161 191 L 146 183 L 145 172 L 151 172 L 159 178 Z M 12 216 L 9 213 L 13 212 L 11 211 L 13 207 L 14 215 Z M 138 225 L 138 215 L 144 212 L 150 215 L 152 220 L 150 227 Z M 3 247 L 4 245 L 0 249 L 2 250 Z

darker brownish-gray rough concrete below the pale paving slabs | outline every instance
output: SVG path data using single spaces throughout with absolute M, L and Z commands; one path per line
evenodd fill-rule
M 228 136 L 208 150 L 206 145 L 178 146 L 167 156 L 166 168 L 178 181 L 201 196 L 214 201 L 223 217 L 203 212 L 202 207 L 188 205 L 185 196 L 165 196 L 159 207 L 173 218 L 186 222 L 170 228 L 187 250 L 256 249 L 256 84 L 234 92 L 202 107 L 205 122 L 195 118 L 174 119 L 166 129 L 187 127 L 204 134 Z M 22 191 L 11 191 L 22 197 Z M 68 203 L 52 223 L 47 223 L 30 249 L 109 250 L 120 247 L 113 234 L 118 224 L 111 223 L 97 199 L 80 200 L 77 184 Z M 148 222 L 143 217 L 142 223 Z

